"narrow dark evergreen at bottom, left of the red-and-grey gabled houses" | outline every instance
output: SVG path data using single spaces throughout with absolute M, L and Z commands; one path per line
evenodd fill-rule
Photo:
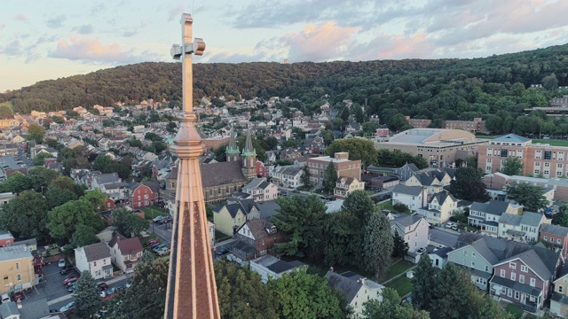
M 432 267 L 432 260 L 427 253 L 420 257 L 412 278 L 412 304 L 414 308 L 430 311 L 431 299 L 436 290 L 438 268 Z

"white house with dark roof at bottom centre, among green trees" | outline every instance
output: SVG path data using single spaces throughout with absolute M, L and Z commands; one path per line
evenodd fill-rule
M 337 274 L 333 270 L 327 271 L 328 284 L 341 292 L 353 309 L 353 317 L 358 318 L 363 312 L 363 304 L 367 300 L 383 301 L 382 284 L 377 284 L 352 271 Z

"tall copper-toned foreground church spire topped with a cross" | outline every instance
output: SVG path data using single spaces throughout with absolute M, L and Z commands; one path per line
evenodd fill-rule
M 185 113 L 171 146 L 179 158 L 179 166 L 164 318 L 218 319 L 221 315 L 199 166 L 204 147 L 193 113 L 192 53 L 203 54 L 205 43 L 199 38 L 192 42 L 191 15 L 184 13 L 181 24 L 182 44 L 174 44 L 171 54 L 182 59 Z

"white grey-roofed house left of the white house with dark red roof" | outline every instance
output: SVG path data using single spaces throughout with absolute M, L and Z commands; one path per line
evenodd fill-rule
M 95 280 L 113 276 L 110 250 L 105 243 L 75 248 L 75 263 L 80 272 L 89 271 Z

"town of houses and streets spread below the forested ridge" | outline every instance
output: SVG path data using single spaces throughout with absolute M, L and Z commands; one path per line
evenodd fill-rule
M 431 128 L 406 117 L 407 129 L 391 131 L 350 100 L 346 115 L 326 103 L 308 116 L 285 102 L 293 100 L 203 97 L 194 107 L 216 263 L 247 266 L 264 284 L 319 268 L 354 318 L 368 314 L 368 300 L 386 302 L 387 288 L 414 305 L 421 261 L 465 269 L 509 312 L 568 315 L 568 146 L 488 136 L 480 118 Z M 170 145 L 181 114 L 148 99 L 0 120 L 2 318 L 65 318 L 84 271 L 105 302 L 133 289 L 146 254 L 168 258 L 179 163 Z M 286 228 L 290 206 L 339 216 L 359 202 L 401 243 L 384 268 L 336 252 L 313 258 L 307 244 L 289 253 L 291 237 L 311 236 Z M 31 221 L 36 211 L 41 222 Z

